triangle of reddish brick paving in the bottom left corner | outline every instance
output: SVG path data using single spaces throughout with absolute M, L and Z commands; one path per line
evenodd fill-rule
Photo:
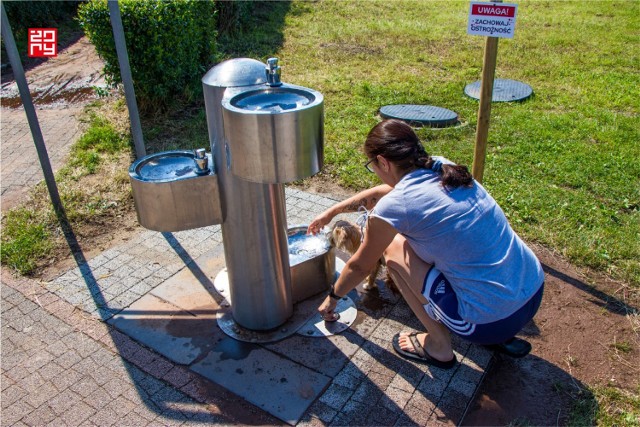
M 38 283 L 2 282 L 3 426 L 279 423 Z

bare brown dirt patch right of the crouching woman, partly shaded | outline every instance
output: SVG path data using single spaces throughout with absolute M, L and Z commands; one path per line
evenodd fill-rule
M 495 358 L 463 425 L 564 425 L 580 401 L 596 405 L 587 385 L 637 393 L 638 292 L 534 250 L 546 282 L 540 310 L 521 334 L 533 351 Z

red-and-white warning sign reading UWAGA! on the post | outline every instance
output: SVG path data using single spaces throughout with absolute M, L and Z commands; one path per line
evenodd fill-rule
M 471 2 L 467 34 L 513 38 L 517 4 Z

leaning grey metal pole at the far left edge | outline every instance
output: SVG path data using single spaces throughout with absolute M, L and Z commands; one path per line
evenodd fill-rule
M 16 83 L 18 84 L 18 90 L 20 91 L 20 99 L 24 106 L 24 112 L 27 115 L 27 121 L 29 122 L 29 128 L 31 129 L 31 135 L 33 136 L 33 143 L 36 146 L 38 152 L 38 159 L 40 160 L 40 166 L 42 167 L 42 173 L 44 175 L 44 181 L 47 184 L 49 190 L 49 196 L 51 197 L 51 203 L 56 214 L 60 215 L 64 213 L 62 201 L 60 200 L 60 194 L 58 193 L 58 186 L 56 185 L 56 179 L 51 169 L 51 162 L 49 161 L 49 155 L 47 153 L 47 147 L 44 144 L 44 138 L 42 137 L 42 130 L 38 123 L 38 116 L 36 109 L 33 106 L 33 100 L 31 99 L 31 92 L 29 92 L 29 85 L 24 75 L 24 69 L 22 68 L 22 61 L 20 61 L 20 55 L 18 48 L 16 47 L 15 39 L 13 38 L 13 32 L 9 25 L 9 18 L 2 7 L 2 37 L 4 38 L 4 45 L 7 48 L 7 55 L 9 55 L 9 62 L 13 69 L 13 75 L 15 76 Z

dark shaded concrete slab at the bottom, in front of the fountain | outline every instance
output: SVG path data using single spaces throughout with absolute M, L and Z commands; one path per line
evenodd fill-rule
M 191 369 L 291 425 L 331 382 L 256 344 L 229 337 Z

